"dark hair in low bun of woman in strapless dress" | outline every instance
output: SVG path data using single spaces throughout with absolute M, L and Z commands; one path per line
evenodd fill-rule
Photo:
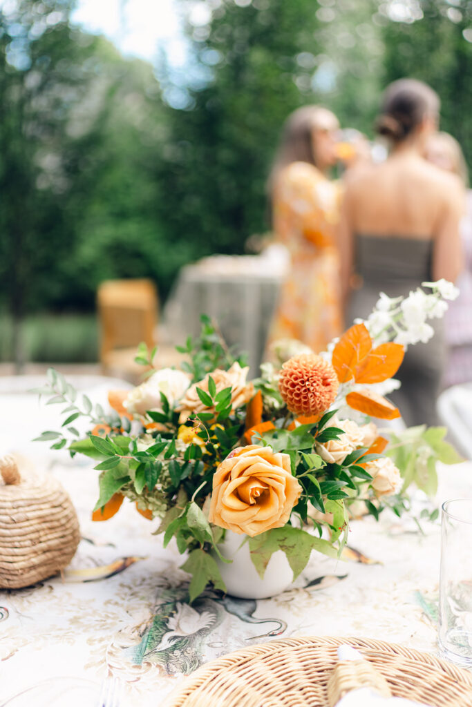
M 425 117 L 437 117 L 441 103 L 431 86 L 415 78 L 400 78 L 387 86 L 376 119 L 376 131 L 393 142 L 401 142 Z

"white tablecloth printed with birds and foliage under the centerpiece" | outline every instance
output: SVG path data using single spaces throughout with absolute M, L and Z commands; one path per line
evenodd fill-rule
M 62 685 L 72 707 L 81 685 L 98 692 L 107 674 L 122 681 L 122 707 L 159 706 L 202 663 L 276 637 L 361 636 L 436 652 L 439 522 L 420 532 L 394 516 L 355 521 L 351 561 L 313 554 L 294 588 L 277 597 L 209 591 L 190 607 L 182 558 L 151 534 L 157 522 L 131 503 L 92 522 L 98 472 L 78 457 L 38 450 L 35 464 L 71 494 L 83 539 L 64 578 L 0 591 L 0 706 L 30 688 L 29 704 L 49 706 L 51 686 Z M 471 486 L 471 462 L 441 467 L 438 503 L 470 496 Z

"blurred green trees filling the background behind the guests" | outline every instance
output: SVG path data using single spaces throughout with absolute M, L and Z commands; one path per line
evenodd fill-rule
M 472 0 L 175 6 L 180 69 L 163 50 L 155 66 L 122 57 L 71 22 L 73 0 L 0 0 L 0 308 L 16 322 L 92 312 L 113 277 L 150 276 L 165 297 L 185 262 L 243 252 L 270 228 L 267 175 L 299 105 L 372 136 L 386 83 L 422 78 L 472 158 Z M 8 322 L 0 358 L 40 357 Z

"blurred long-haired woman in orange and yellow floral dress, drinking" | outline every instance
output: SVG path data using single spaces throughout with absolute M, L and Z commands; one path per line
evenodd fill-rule
M 338 119 L 305 106 L 287 119 L 270 177 L 275 235 L 289 251 L 269 344 L 297 339 L 323 351 L 343 329 L 340 262 L 335 243 L 339 187 L 328 179 L 337 161 Z

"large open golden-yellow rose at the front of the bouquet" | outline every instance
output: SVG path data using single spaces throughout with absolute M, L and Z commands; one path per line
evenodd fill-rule
M 288 454 L 258 445 L 239 447 L 214 473 L 208 520 L 254 537 L 285 525 L 300 493 Z

